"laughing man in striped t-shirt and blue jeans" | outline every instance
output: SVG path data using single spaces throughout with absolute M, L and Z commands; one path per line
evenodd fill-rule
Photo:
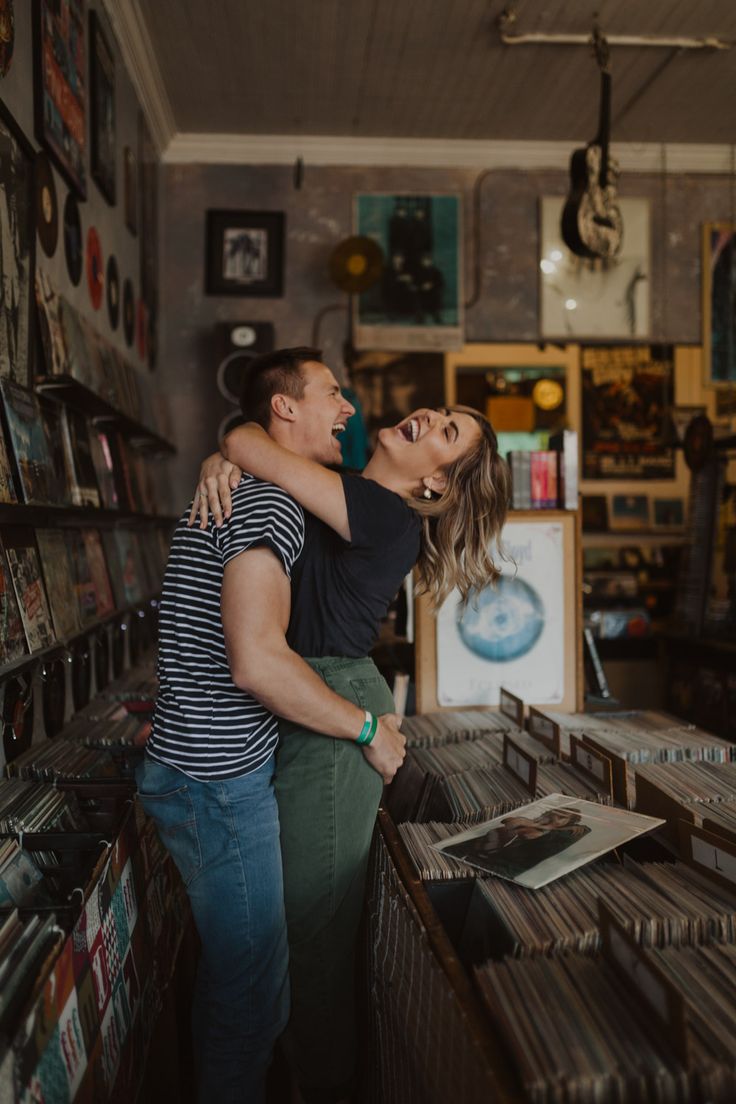
M 353 407 L 317 349 L 257 358 L 242 405 L 286 448 L 340 460 Z M 198 503 L 195 503 L 198 505 Z M 288 1016 L 274 712 L 340 740 L 365 713 L 328 689 L 286 644 L 301 508 L 244 476 L 230 518 L 171 546 L 159 625 L 159 694 L 138 786 L 186 885 L 202 941 L 193 1009 L 199 1098 L 258 1102 Z M 364 754 L 387 782 L 404 757 L 393 714 Z

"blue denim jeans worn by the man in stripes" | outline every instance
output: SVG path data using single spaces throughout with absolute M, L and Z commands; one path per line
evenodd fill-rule
M 201 1104 L 262 1104 L 289 1011 L 274 757 L 196 782 L 146 756 L 138 793 L 186 887 L 202 942 L 192 1030 Z

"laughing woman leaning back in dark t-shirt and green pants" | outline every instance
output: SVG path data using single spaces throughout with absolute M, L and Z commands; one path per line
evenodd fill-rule
M 370 713 L 393 711 L 391 691 L 364 657 L 402 580 L 439 604 L 493 582 L 490 551 L 509 498 L 509 473 L 488 421 L 465 407 L 420 410 L 383 428 L 361 476 L 297 456 L 259 426 L 234 429 L 205 461 L 195 503 L 227 514 L 227 480 L 241 470 L 275 482 L 307 514 L 292 572 L 288 643 L 328 684 Z M 202 499 L 200 496 L 205 496 Z M 192 519 L 196 507 L 192 510 Z M 289 932 L 291 1020 L 285 1045 L 302 1095 L 350 1091 L 356 1044 L 353 957 L 382 781 L 361 749 L 282 724 L 275 776 Z

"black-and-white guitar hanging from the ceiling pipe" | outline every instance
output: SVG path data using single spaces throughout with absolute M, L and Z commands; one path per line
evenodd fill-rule
M 561 229 L 565 245 L 576 256 L 610 259 L 621 248 L 623 222 L 616 193 L 618 166 L 608 153 L 611 76 L 606 40 L 596 36 L 595 49 L 600 65 L 598 134 L 570 158 L 570 191 Z

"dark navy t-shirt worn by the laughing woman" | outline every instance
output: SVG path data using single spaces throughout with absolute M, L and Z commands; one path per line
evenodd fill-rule
M 291 569 L 287 640 L 300 656 L 367 656 L 419 555 L 422 522 L 415 510 L 372 479 L 341 479 L 351 540 L 305 513 L 305 546 Z

